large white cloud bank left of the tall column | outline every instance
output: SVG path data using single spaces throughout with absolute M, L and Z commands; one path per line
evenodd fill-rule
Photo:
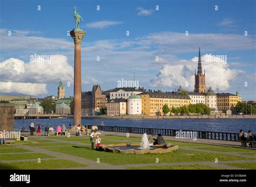
M 4 88 L 1 86 L 0 92 L 41 95 L 46 93 L 47 83 L 58 83 L 60 80 L 72 83 L 73 68 L 64 55 L 51 55 L 50 62 L 24 63 L 10 58 L 0 62 L 0 80 L 3 86 L 9 85 Z

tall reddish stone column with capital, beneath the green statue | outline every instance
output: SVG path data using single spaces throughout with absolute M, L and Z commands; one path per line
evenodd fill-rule
M 75 62 L 74 62 L 74 126 L 81 124 L 81 43 L 86 31 L 83 30 L 72 30 L 70 31 L 71 37 L 75 43 Z

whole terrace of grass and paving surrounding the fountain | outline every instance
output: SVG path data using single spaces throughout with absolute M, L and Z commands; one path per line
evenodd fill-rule
M 103 144 L 134 143 L 141 136 L 102 132 L 100 138 Z M 256 169 L 256 150 L 241 148 L 239 142 L 164 138 L 179 149 L 124 155 L 91 150 L 87 135 L 29 136 L 29 141 L 0 145 L 0 169 Z

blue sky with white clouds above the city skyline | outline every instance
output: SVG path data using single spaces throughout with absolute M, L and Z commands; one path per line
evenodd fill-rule
M 118 80 L 132 80 L 133 73 L 147 89 L 172 91 L 181 85 L 193 90 L 200 45 L 207 88 L 238 89 L 243 100 L 256 99 L 255 1 L 0 2 L 1 94 L 57 95 L 62 79 L 66 96 L 72 95 L 73 42 L 66 33 L 75 27 L 76 5 L 87 31 L 82 43 L 84 91 L 93 84 L 111 89 Z M 55 60 L 31 63 L 35 53 L 55 55 Z M 226 55 L 227 62 L 209 62 L 206 54 Z M 21 87 L 30 89 L 17 89 Z

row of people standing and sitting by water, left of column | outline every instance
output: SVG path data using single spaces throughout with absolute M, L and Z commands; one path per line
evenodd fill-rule
M 71 126 L 71 124 L 70 124 L 70 126 Z M 37 123 L 37 126 L 35 128 L 35 124 L 33 123 L 33 121 L 31 121 L 29 130 L 30 130 L 31 136 L 34 135 L 34 132 L 36 132 L 36 135 L 41 136 L 42 126 L 40 123 Z M 24 131 L 24 129 L 22 129 L 22 131 Z M 60 125 L 57 125 L 56 130 L 54 131 L 54 128 L 52 127 L 52 125 L 50 127 L 49 127 L 49 125 L 46 125 L 46 127 L 44 129 L 45 136 L 54 135 L 54 132 L 56 132 L 56 135 L 65 135 L 66 126 L 64 124 L 62 125 L 62 127 L 60 127 Z

